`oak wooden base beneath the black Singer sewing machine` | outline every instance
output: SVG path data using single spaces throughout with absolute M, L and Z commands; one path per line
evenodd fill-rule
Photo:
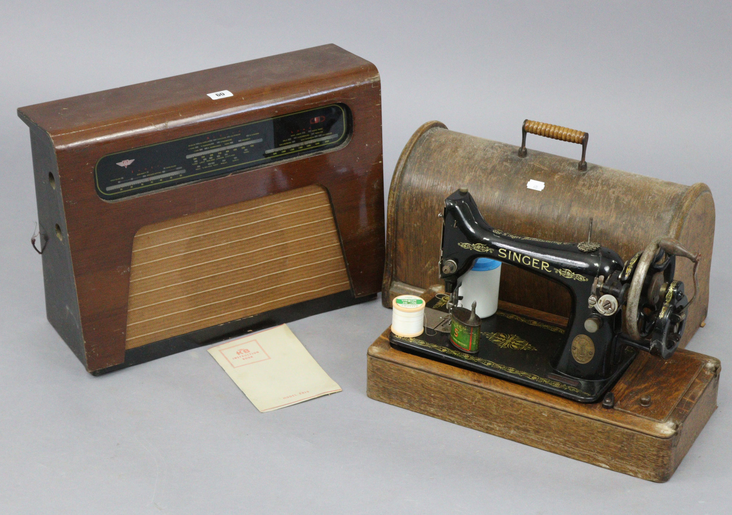
M 663 482 L 671 478 L 717 408 L 720 369 L 718 359 L 692 351 L 676 351 L 665 361 L 641 353 L 613 387 L 616 403 L 608 409 L 399 351 L 390 346 L 387 328 L 368 349 L 367 394 L 400 408 Z M 644 407 L 640 399 L 646 395 L 651 404 Z

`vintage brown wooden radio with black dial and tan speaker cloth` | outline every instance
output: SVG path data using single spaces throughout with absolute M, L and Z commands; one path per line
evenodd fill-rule
M 381 89 L 335 45 L 18 109 L 48 320 L 91 373 L 373 299 Z

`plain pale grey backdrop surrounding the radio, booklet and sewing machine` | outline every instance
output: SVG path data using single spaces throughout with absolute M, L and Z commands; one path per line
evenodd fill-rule
M 589 131 L 588 159 L 717 202 L 712 298 L 690 348 L 728 338 L 728 1 L 0 2 L 0 512 L 643 513 L 730 506 L 732 403 L 653 484 L 366 397 L 378 301 L 291 328 L 343 392 L 258 413 L 206 353 L 100 378 L 45 320 L 26 126 L 17 107 L 333 42 L 381 72 L 384 175 L 417 127 L 518 144 L 532 118 Z M 531 137 L 576 159 L 577 145 Z M 728 370 L 728 369 L 725 369 Z

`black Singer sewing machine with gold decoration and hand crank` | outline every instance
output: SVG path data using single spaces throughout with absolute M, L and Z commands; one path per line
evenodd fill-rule
M 389 335 L 397 348 L 592 403 L 638 350 L 668 359 L 679 346 L 693 298 L 687 300 L 684 283 L 674 280 L 676 256 L 694 263 L 694 291 L 701 256 L 676 240 L 658 238 L 623 263 L 618 253 L 591 241 L 591 220 L 588 239 L 580 243 L 508 234 L 485 221 L 467 188 L 445 199 L 442 218 L 445 293 L 427 303 L 422 335 Z M 460 302 L 460 278 L 478 257 L 561 283 L 572 299 L 567 326 L 498 310 L 482 320 L 477 354 L 452 345 L 449 315 Z M 605 403 L 612 407 L 613 399 Z

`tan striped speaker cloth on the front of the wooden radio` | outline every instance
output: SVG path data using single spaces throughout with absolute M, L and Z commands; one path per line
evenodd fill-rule
M 132 246 L 126 348 L 347 289 L 320 186 L 144 226 Z

